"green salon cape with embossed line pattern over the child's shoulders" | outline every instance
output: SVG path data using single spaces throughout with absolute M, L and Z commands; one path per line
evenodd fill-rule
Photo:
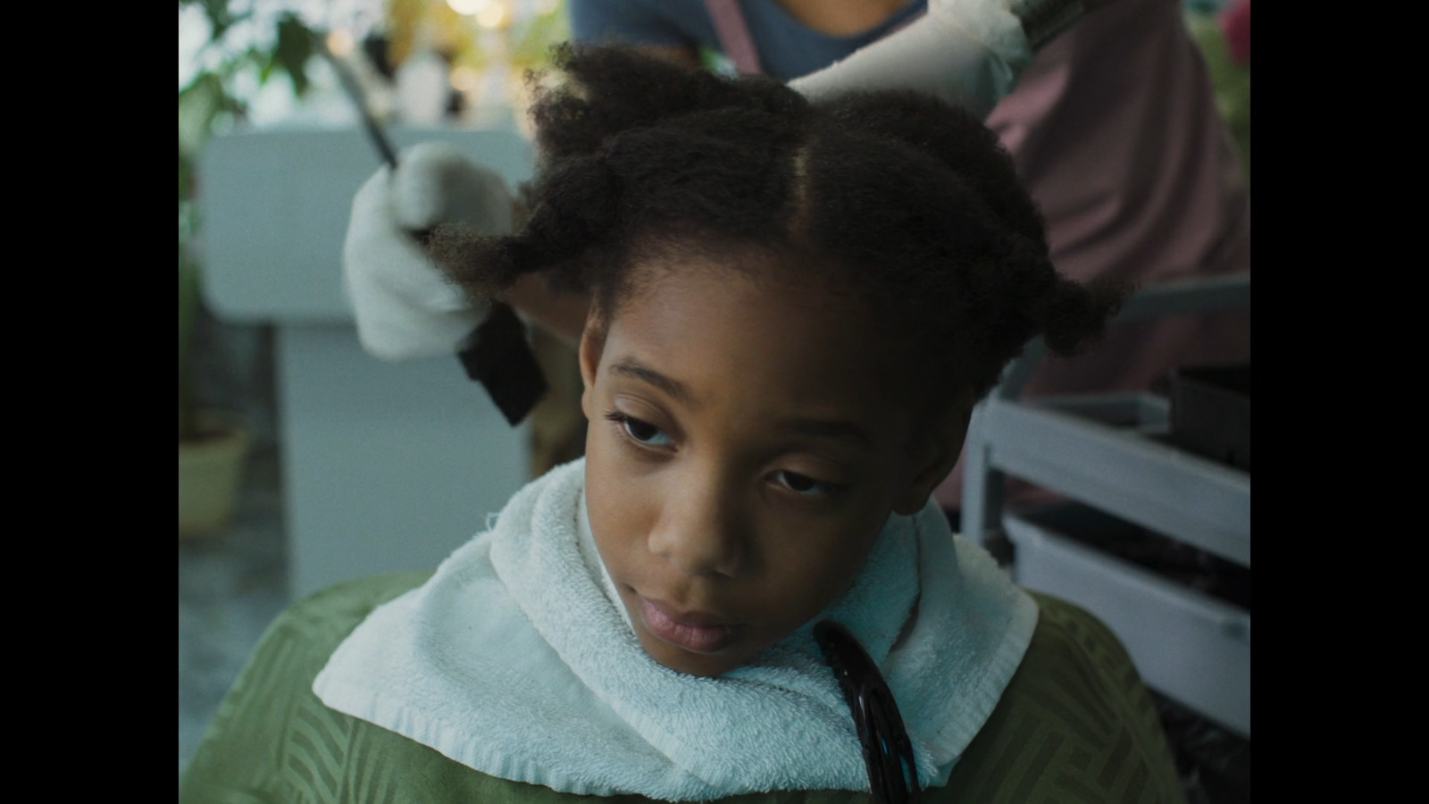
M 339 584 L 283 612 L 263 635 L 179 780 L 187 804 L 650 801 L 556 793 L 467 768 L 419 742 L 329 710 L 312 692 L 327 657 L 369 612 L 430 572 Z M 1116 637 L 1046 595 L 1002 701 L 932 803 L 1183 804 L 1160 721 Z M 866 803 L 846 790 L 726 798 L 742 804 Z

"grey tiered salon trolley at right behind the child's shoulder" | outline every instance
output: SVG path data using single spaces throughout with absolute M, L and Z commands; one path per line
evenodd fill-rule
M 1119 320 L 1246 306 L 1249 275 L 1163 285 Z M 1250 567 L 1250 474 L 1172 446 L 1167 402 L 1146 393 L 1017 398 L 1040 345 L 973 412 L 963 456 L 963 532 L 1016 546 L 1017 582 L 1105 621 L 1146 682 L 1250 735 L 1250 612 L 1180 587 L 1003 511 L 1003 478 L 1060 492 Z

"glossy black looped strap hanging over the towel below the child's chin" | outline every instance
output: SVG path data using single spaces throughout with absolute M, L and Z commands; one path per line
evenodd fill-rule
M 849 702 L 853 724 L 863 744 L 863 764 L 869 770 L 869 790 L 875 804 L 907 804 L 915 801 L 917 765 L 913 764 L 913 741 L 903 730 L 893 692 L 879 674 L 877 665 L 849 634 L 832 619 L 813 627 L 813 638 L 823 658 L 833 668 L 843 700 Z

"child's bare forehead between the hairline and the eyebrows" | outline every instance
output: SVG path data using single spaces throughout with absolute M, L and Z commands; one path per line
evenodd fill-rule
M 889 419 L 902 382 L 867 306 L 806 270 L 699 255 L 640 266 L 602 363 L 659 375 L 686 402 L 755 418 Z M 896 418 L 896 416 L 893 416 Z

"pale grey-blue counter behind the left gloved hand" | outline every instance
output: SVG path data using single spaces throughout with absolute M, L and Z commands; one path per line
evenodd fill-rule
M 400 129 L 442 139 L 514 185 L 513 132 Z M 279 442 L 294 598 L 343 578 L 434 568 L 522 486 L 513 429 L 456 358 L 392 365 L 362 350 L 342 292 L 342 243 L 379 156 L 360 129 L 213 140 L 200 165 L 204 300 L 277 330 Z

